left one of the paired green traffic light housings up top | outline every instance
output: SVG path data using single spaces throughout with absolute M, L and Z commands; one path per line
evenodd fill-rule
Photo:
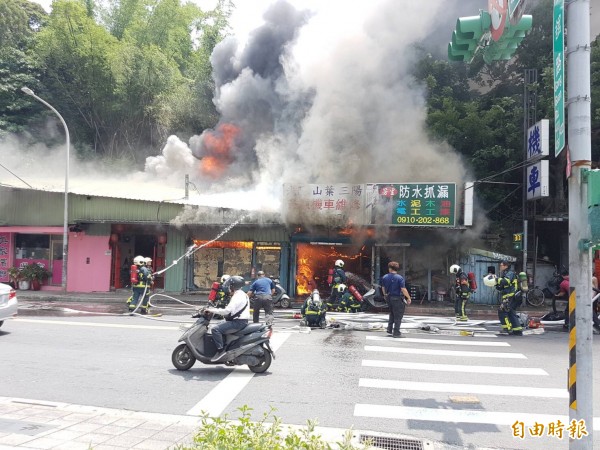
M 452 41 L 448 44 L 448 59 L 470 62 L 479 48 L 479 41 L 489 31 L 491 24 L 489 13 L 483 10 L 479 11 L 478 16 L 459 17 L 456 30 L 452 32 Z

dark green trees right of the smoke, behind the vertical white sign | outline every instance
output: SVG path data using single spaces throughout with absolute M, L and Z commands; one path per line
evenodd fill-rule
M 536 4 L 531 11 L 534 27 L 511 61 L 465 65 L 425 56 L 415 70 L 429 94 L 429 133 L 465 156 L 472 178 L 479 182 L 477 197 L 491 219 L 490 232 L 512 233 L 522 227 L 525 69 L 538 70 L 537 83 L 531 86 L 537 120 L 554 115 L 552 5 L 552 0 Z M 554 192 L 561 197 L 564 162 L 553 167 Z

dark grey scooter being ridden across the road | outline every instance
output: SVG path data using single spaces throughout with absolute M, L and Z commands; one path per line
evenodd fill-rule
M 218 362 L 212 362 L 211 358 L 217 353 L 208 331 L 213 314 L 201 309 L 192 317 L 197 319 L 196 323 L 181 335 L 178 342 L 183 343 L 175 347 L 171 356 L 177 370 L 189 370 L 198 360 L 203 364 L 247 365 L 252 372 L 263 373 L 275 359 L 269 344 L 273 329 L 262 323 L 251 323 L 235 333 L 223 335 L 225 354 Z

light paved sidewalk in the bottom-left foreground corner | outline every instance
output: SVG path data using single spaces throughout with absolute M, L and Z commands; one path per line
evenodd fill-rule
M 162 450 L 191 444 L 191 416 L 0 397 L 0 450 Z

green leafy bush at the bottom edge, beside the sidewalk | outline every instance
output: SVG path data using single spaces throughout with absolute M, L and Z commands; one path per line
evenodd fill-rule
M 307 421 L 305 429 L 295 431 L 291 428 L 284 430 L 281 419 L 273 415 L 274 408 L 263 415 L 259 422 L 251 421 L 252 408 L 238 408 L 241 417 L 237 421 L 223 418 L 202 416 L 202 427 L 194 436 L 192 447 L 178 446 L 179 450 L 358 450 L 368 446 L 355 447 L 351 444 L 352 431 L 348 430 L 341 442 L 333 446 L 324 441 L 320 435 L 314 434 L 316 421 Z M 272 421 L 268 422 L 268 419 Z

